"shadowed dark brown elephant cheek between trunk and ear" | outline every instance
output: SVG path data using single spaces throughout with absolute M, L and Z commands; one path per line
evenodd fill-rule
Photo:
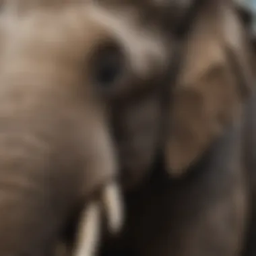
M 133 189 L 143 182 L 156 158 L 162 119 L 158 96 L 150 94 L 116 108 L 115 139 L 125 189 Z

